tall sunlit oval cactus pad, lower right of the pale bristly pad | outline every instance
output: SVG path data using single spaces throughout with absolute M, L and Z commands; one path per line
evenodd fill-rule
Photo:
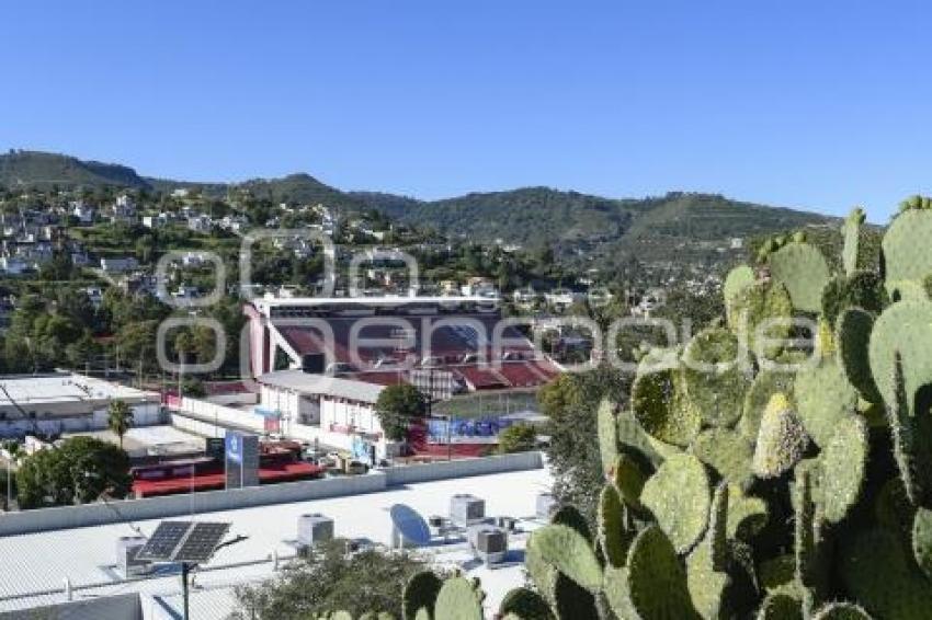
M 821 495 L 823 516 L 839 523 L 861 496 L 867 475 L 867 425 L 860 417 L 839 422 L 834 435 L 821 455 Z

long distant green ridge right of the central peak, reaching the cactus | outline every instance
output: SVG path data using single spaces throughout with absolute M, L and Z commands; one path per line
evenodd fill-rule
M 385 194 L 355 194 L 371 207 L 417 226 L 493 242 L 536 245 L 542 242 L 650 252 L 682 240 L 721 242 L 819 225 L 832 218 L 731 200 L 713 194 L 670 193 L 644 199 L 611 199 L 526 187 L 511 192 L 468 194 L 420 202 Z

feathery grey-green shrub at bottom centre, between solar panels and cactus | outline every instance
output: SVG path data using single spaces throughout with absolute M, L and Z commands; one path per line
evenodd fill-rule
M 237 588 L 242 620 L 317 618 L 344 610 L 352 618 L 366 612 L 401 615 L 401 592 L 429 563 L 408 552 L 371 549 L 346 553 L 346 541 L 315 548 L 307 559 L 287 565 L 272 581 Z

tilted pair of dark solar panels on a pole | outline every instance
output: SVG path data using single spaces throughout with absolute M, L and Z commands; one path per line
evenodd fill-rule
M 136 558 L 149 562 L 206 562 L 229 528 L 229 524 L 162 521 Z

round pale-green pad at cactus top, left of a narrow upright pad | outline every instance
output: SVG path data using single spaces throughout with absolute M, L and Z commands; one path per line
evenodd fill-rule
M 771 276 L 786 287 L 794 308 L 804 312 L 821 309 L 829 266 L 818 249 L 808 243 L 787 243 L 768 257 L 768 264 Z

